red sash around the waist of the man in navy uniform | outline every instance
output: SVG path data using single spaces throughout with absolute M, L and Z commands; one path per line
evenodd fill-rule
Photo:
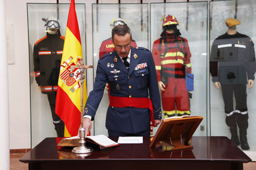
M 153 104 L 150 98 L 129 98 L 117 97 L 109 95 L 109 106 L 114 107 L 135 107 L 135 108 L 149 108 L 150 120 L 155 127 Z M 151 123 L 150 123 L 151 124 Z

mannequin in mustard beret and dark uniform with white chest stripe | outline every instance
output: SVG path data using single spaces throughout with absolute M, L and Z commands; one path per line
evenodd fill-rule
M 210 72 L 214 87 L 217 89 L 221 87 L 222 90 L 226 124 L 230 127 L 231 141 L 237 146 L 241 143 L 241 148 L 247 150 L 250 147 L 246 137 L 249 126 L 246 84 L 249 82 L 249 89 L 253 87 L 256 63 L 252 39 L 236 31 L 236 25 L 240 23 L 234 18 L 227 19 L 228 31 L 213 41 Z M 235 109 L 233 92 L 236 99 Z

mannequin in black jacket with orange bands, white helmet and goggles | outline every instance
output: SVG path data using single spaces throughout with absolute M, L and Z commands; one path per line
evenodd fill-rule
M 61 36 L 60 23 L 56 17 L 50 16 L 42 20 L 45 21 L 47 33 L 34 46 L 36 83 L 42 94 L 46 94 L 49 100 L 57 137 L 64 137 L 65 124 L 55 113 L 55 101 L 65 37 Z

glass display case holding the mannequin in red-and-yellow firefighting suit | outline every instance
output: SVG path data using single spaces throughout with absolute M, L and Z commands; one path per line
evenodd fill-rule
M 150 4 L 150 47 L 163 117 L 203 116 L 194 135 L 207 135 L 207 6 Z

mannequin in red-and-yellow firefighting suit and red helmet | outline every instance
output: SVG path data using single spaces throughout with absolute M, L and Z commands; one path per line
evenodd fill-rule
M 175 116 L 176 110 L 177 116 L 190 115 L 185 76 L 191 73 L 191 53 L 187 39 L 180 37 L 178 24 L 174 16 L 166 16 L 161 38 L 152 50 L 165 118 Z

